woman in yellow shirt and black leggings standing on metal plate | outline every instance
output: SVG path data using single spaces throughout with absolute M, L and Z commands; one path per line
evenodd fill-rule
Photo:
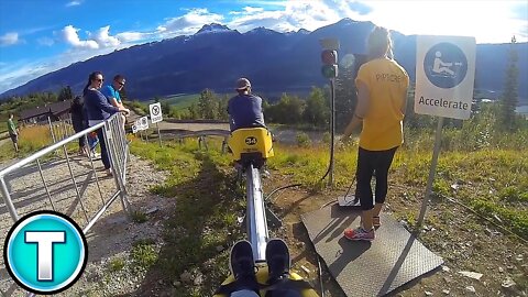
M 403 120 L 407 106 L 409 76 L 393 59 L 392 40 L 387 29 L 376 26 L 369 35 L 369 62 L 355 78 L 358 106 L 342 140 L 363 124 L 358 150 L 355 196 L 360 199 L 361 226 L 344 230 L 349 240 L 374 240 L 380 212 L 387 196 L 388 168 L 396 150 L 404 143 Z M 373 199 L 371 178 L 375 173 Z M 374 201 L 375 200 L 375 204 Z

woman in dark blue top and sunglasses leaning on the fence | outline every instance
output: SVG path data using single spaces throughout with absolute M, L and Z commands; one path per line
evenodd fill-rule
M 82 90 L 82 95 L 85 97 L 85 109 L 88 118 L 88 125 L 94 127 L 108 118 L 110 118 L 113 113 L 117 112 L 124 112 L 129 113 L 124 107 L 114 107 L 111 106 L 105 95 L 102 95 L 99 90 L 101 89 L 102 81 L 103 81 L 102 73 L 95 72 L 91 73 L 88 77 L 88 82 L 86 84 L 85 89 Z M 112 170 L 110 168 L 110 158 L 108 156 L 107 143 L 105 141 L 105 134 L 102 129 L 97 130 L 97 135 L 99 138 L 99 145 L 101 147 L 101 161 L 105 165 L 105 169 L 107 170 L 108 175 L 112 175 Z

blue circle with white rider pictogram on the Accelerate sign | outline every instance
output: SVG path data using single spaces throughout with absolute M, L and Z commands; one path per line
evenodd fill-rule
M 464 80 L 468 73 L 468 58 L 457 45 L 439 43 L 427 52 L 424 72 L 432 85 L 450 89 Z

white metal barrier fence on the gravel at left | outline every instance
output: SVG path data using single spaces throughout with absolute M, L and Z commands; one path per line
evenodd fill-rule
M 68 124 L 51 123 L 56 143 L 0 170 L 0 249 L 3 251 L 9 229 L 24 215 L 54 210 L 70 217 L 86 234 L 118 198 L 131 213 L 127 194 L 128 141 L 122 117 L 114 114 L 105 122 L 73 133 Z M 112 175 L 100 160 L 79 155 L 78 139 L 102 129 Z M 57 133 L 61 131 L 61 133 Z M 75 153 L 70 153 L 74 151 Z M 0 295 L 13 296 L 20 288 L 9 276 L 0 258 Z

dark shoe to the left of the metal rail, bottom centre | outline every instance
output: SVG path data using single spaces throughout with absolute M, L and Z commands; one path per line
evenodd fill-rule
M 241 240 L 233 245 L 229 256 L 231 273 L 241 287 L 257 292 L 257 283 L 255 277 L 255 261 L 253 258 L 253 250 L 251 243 Z

